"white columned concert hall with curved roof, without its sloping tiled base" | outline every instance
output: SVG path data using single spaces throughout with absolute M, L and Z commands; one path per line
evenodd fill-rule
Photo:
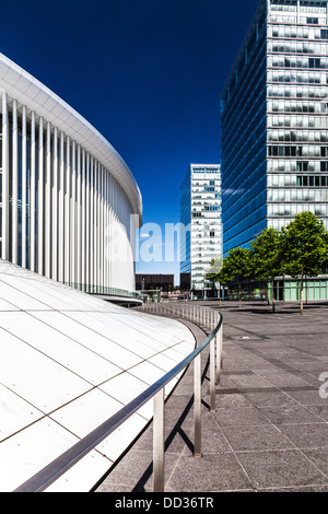
M 0 257 L 84 292 L 134 291 L 142 199 L 82 116 L 0 55 Z

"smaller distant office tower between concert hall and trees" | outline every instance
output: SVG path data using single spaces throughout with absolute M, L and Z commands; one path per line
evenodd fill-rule
M 180 287 L 192 297 L 216 296 L 204 276 L 222 255 L 219 164 L 191 164 L 180 188 Z

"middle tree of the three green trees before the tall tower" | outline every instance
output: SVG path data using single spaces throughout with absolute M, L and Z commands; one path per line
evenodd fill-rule
M 276 229 L 265 229 L 255 241 L 251 242 L 254 250 L 254 274 L 266 280 L 268 297 L 269 284 L 272 289 L 272 312 L 276 312 L 274 279 L 283 274 L 283 258 L 280 244 L 280 232 Z

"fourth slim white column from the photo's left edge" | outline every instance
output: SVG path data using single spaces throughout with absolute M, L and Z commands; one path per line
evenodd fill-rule
M 31 115 L 31 170 L 30 170 L 30 268 L 36 270 L 35 266 L 35 197 L 36 197 L 36 137 L 35 137 L 35 113 Z

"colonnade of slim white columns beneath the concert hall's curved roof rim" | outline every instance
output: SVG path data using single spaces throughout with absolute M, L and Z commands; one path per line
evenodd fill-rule
M 78 138 L 5 93 L 1 175 L 2 259 L 83 291 L 134 290 L 125 191 Z

